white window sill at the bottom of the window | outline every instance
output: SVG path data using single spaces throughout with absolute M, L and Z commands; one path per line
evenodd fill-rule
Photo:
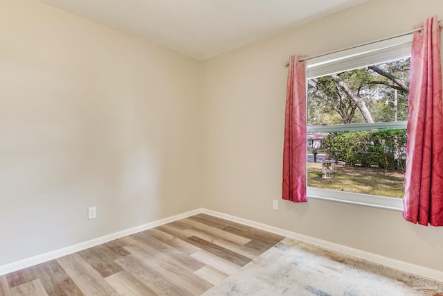
M 307 197 L 317 198 L 319 200 L 330 200 L 334 202 L 356 204 L 365 207 L 389 209 L 392 211 L 403 211 L 403 199 L 401 198 L 388 198 L 379 195 L 342 192 L 312 187 L 307 188 Z

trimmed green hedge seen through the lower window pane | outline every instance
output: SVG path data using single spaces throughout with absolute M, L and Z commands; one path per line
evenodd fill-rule
M 406 130 L 336 132 L 325 140 L 329 158 L 350 166 L 403 169 Z

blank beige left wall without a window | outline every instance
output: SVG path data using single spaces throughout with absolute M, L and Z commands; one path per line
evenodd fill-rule
M 201 62 L 1 0 L 0 265 L 200 207 L 200 82 Z

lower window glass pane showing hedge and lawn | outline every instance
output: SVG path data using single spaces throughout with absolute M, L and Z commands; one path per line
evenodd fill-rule
M 307 186 L 403 198 L 406 130 L 308 132 Z

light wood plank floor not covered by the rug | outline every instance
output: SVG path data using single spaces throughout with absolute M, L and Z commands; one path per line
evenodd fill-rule
M 0 295 L 201 295 L 282 238 L 200 214 L 0 276 Z

